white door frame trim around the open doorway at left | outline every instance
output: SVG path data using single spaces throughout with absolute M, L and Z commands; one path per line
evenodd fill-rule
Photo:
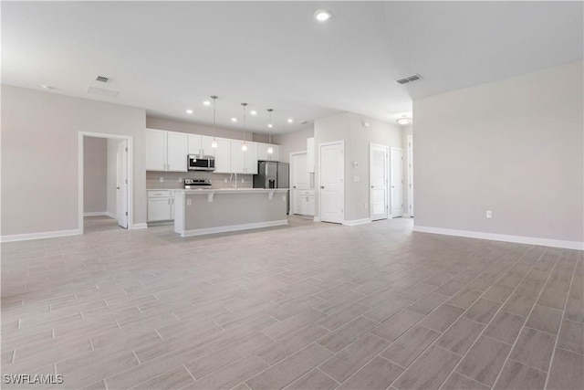
M 134 228 L 134 138 L 106 132 L 78 132 L 78 234 L 83 234 L 83 142 L 84 137 L 126 140 L 128 142 L 128 229 Z

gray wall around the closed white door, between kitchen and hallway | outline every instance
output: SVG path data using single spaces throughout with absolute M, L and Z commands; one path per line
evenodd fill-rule
M 369 123 L 369 127 L 363 125 Z M 315 183 L 318 185 L 318 145 L 345 142 L 345 220 L 370 217 L 369 210 L 369 148 L 370 143 L 402 147 L 402 131 L 397 124 L 378 121 L 352 112 L 343 112 L 315 121 Z M 357 168 L 354 163 L 359 163 Z M 355 182 L 355 176 L 359 181 Z M 318 192 L 316 194 L 318 216 Z

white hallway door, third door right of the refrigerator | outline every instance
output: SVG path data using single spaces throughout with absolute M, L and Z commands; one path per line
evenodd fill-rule
M 370 144 L 369 147 L 370 218 L 386 219 L 388 212 L 388 147 Z

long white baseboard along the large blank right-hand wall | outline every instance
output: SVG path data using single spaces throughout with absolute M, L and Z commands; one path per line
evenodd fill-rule
M 489 239 L 493 241 L 516 242 L 517 244 L 540 245 L 543 247 L 566 248 L 584 250 L 584 242 L 565 241 L 560 239 L 510 236 L 496 233 L 474 232 L 471 230 L 445 229 L 442 227 L 421 227 L 414 225 L 414 232 L 441 234 L 445 236 L 458 236 L 469 238 Z

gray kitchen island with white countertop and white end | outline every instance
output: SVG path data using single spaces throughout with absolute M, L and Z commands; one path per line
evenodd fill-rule
M 174 190 L 174 231 L 182 237 L 287 225 L 287 188 Z

